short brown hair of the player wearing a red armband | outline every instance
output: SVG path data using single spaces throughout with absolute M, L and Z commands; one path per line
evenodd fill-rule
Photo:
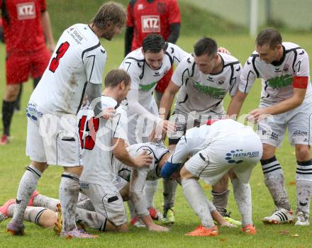
M 277 45 L 282 45 L 282 35 L 275 28 L 265 28 L 260 31 L 256 38 L 256 45 L 269 45 L 275 49 Z

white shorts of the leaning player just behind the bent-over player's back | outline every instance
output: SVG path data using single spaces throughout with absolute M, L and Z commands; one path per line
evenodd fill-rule
M 169 145 L 177 145 L 180 138 L 186 133 L 186 130 L 203 125 L 208 119 L 222 118 L 222 115 L 225 115 L 225 112 L 215 113 L 213 111 L 208 111 L 203 115 L 194 115 L 192 112 L 184 113 L 183 111 L 174 109 L 169 120 L 174 122 L 177 128 L 174 132 L 167 133 L 169 137 Z

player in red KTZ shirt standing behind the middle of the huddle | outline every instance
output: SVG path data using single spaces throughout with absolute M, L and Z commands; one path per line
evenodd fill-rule
M 127 6 L 125 57 L 132 50 L 142 47 L 150 33 L 159 33 L 169 43 L 176 43 L 180 30 L 180 10 L 177 0 L 131 0 Z M 165 92 L 172 77 L 172 69 L 156 86 L 156 103 Z

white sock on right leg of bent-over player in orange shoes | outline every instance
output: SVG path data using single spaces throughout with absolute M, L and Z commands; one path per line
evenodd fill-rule
M 242 215 L 242 225 L 252 225 L 252 203 L 250 184 L 243 184 L 238 179 L 232 180 L 233 193 L 235 201 L 238 204 L 238 210 Z

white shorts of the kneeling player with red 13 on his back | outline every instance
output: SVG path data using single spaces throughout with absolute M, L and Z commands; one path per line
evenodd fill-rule
M 113 184 L 104 186 L 80 181 L 80 190 L 90 198 L 94 210 L 104 215 L 113 225 L 127 222 L 123 198 Z

